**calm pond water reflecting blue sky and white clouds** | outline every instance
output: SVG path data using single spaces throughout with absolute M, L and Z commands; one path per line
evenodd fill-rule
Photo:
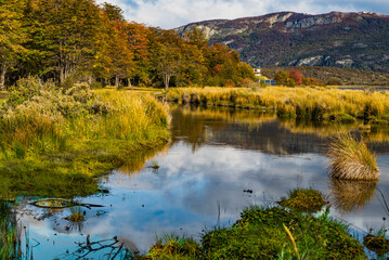
M 332 182 L 326 173 L 325 143 L 340 130 L 280 122 L 258 112 L 172 106 L 171 143 L 139 153 L 102 178 L 109 194 L 77 198 L 104 206 L 81 207 L 82 223 L 65 219 L 69 209 L 41 209 L 28 204 L 31 198 L 22 199 L 17 217 L 29 242 L 25 251 L 41 260 L 124 257 L 121 244 L 145 252 L 156 235 L 199 239 L 203 230 L 232 224 L 244 208 L 274 205 L 296 187 L 328 195 L 332 216 L 350 223 L 355 234 L 378 231 L 388 224 L 382 217 L 389 218 L 382 206 L 389 197 L 389 134 L 365 133 L 378 152 L 381 177 L 377 185 L 356 185 Z M 160 168 L 150 168 L 153 164 Z

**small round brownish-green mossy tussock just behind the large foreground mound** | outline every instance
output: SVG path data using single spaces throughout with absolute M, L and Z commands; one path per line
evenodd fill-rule
M 298 188 L 289 193 L 288 198 L 283 198 L 278 204 L 300 212 L 320 211 L 326 204 L 321 192 L 312 188 Z

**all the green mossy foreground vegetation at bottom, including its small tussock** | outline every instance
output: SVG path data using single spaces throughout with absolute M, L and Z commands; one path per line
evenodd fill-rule
M 163 235 L 133 259 L 366 259 L 349 227 L 328 217 L 323 194 L 299 188 L 287 200 L 285 207 L 245 209 L 231 226 L 203 231 L 200 243 Z

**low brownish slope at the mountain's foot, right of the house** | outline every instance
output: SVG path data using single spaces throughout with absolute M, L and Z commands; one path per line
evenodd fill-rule
M 291 68 L 298 69 L 306 78 L 315 78 L 327 83 L 340 82 L 343 86 L 384 86 L 389 87 L 389 74 L 375 73 L 371 70 L 360 70 L 355 68 L 336 68 L 317 66 L 299 67 L 263 67 L 263 76 L 273 79 L 275 74 L 281 70 L 288 72 Z

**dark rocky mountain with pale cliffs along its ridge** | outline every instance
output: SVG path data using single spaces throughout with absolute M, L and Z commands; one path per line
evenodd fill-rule
M 192 23 L 209 42 L 236 50 L 252 66 L 328 66 L 389 73 L 389 15 L 361 12 L 272 13 Z

